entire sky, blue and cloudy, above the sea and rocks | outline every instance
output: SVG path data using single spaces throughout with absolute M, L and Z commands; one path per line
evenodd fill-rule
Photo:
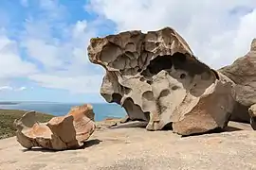
M 105 102 L 89 40 L 165 26 L 218 69 L 256 38 L 256 1 L 1 0 L 0 101 Z

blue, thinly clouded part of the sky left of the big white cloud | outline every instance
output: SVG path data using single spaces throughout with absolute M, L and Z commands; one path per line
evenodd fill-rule
M 114 23 L 86 11 L 86 1 L 17 2 L 0 2 L 2 54 L 17 62 L 6 68 L 0 100 L 103 102 L 104 72 L 89 63 L 86 46 L 92 37 L 114 33 Z

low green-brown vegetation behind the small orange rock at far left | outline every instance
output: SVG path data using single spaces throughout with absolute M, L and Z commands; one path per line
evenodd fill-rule
M 19 119 L 25 112 L 25 110 L 0 110 L 0 139 L 15 136 L 16 129 L 13 127 L 13 122 L 15 119 Z M 37 112 L 36 117 L 39 122 L 46 122 L 53 115 Z

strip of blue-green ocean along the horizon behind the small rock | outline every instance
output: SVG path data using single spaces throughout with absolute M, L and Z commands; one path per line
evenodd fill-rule
M 44 103 L 44 102 L 21 102 L 11 105 L 0 105 L 0 109 L 8 110 L 35 110 L 52 114 L 55 116 L 65 115 L 73 106 L 80 106 L 81 103 Z M 101 121 L 107 117 L 123 117 L 126 112 L 117 104 L 95 103 L 91 104 L 95 113 L 95 121 Z

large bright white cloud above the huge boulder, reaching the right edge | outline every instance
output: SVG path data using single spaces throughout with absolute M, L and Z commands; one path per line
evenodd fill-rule
M 214 68 L 244 55 L 256 37 L 255 0 L 90 0 L 90 8 L 118 31 L 172 26 Z

